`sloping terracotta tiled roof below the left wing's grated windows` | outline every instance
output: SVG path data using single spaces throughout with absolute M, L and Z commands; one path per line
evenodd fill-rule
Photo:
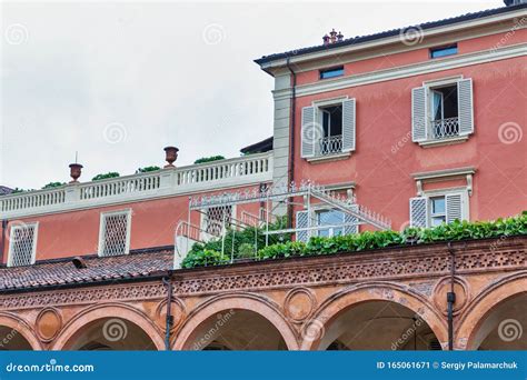
M 143 278 L 172 268 L 173 249 L 159 248 L 130 254 L 83 257 L 87 268 L 77 269 L 73 258 L 47 260 L 29 267 L 0 269 L 0 291 Z

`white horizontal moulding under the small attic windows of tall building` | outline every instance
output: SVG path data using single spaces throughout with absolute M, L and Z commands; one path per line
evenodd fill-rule
M 350 87 L 458 69 L 467 66 L 488 63 L 521 56 L 527 56 L 527 43 L 518 43 L 493 50 L 483 50 L 473 53 L 455 56 L 451 58 L 444 58 L 441 60 L 429 60 L 391 69 L 377 70 L 334 80 L 326 80 L 324 82 L 302 84 L 297 87 L 297 96 L 304 97 L 321 92 L 336 91 Z M 275 100 L 288 99 L 291 96 L 291 89 L 275 91 L 274 96 Z

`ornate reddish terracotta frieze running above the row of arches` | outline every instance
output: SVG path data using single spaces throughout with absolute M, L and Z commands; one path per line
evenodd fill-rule
M 527 268 L 527 237 L 470 240 L 453 243 L 456 273 L 477 274 Z M 296 286 L 321 287 L 365 280 L 439 278 L 449 273 L 446 243 L 390 248 L 312 258 L 270 260 L 218 268 L 176 271 L 175 296 L 257 291 Z M 161 281 L 33 291 L 0 296 L 0 310 L 82 304 L 108 300 L 159 300 Z

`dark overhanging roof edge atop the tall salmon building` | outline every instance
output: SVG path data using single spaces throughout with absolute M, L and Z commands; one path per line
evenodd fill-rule
M 369 42 L 369 41 L 374 41 L 374 40 L 378 40 L 378 39 L 382 39 L 382 38 L 398 36 L 399 33 L 405 32 L 409 28 L 418 28 L 418 29 L 421 29 L 421 30 L 427 30 L 427 29 L 431 29 L 431 28 L 437 28 L 437 27 L 454 24 L 454 23 L 458 23 L 458 22 L 476 20 L 476 19 L 480 19 L 480 18 L 485 18 L 485 17 L 495 16 L 495 14 L 506 13 L 506 12 L 515 11 L 515 10 L 523 9 L 523 8 L 527 8 L 527 3 L 518 4 L 518 6 L 495 8 L 495 9 L 487 9 L 487 10 L 483 10 L 483 11 L 479 11 L 479 12 L 465 13 L 465 14 L 451 17 L 451 18 L 448 18 L 448 19 L 443 19 L 443 20 L 438 20 L 438 21 L 430 21 L 430 22 L 424 22 L 424 23 L 419 23 L 417 26 L 408 26 L 408 27 L 399 28 L 399 29 L 391 29 L 391 30 L 387 30 L 387 31 L 379 32 L 379 33 L 374 33 L 374 34 L 357 36 L 357 37 L 345 39 L 341 42 L 335 42 L 335 43 L 331 43 L 331 44 L 328 44 L 328 46 L 318 44 L 318 46 L 308 47 L 308 48 L 295 49 L 295 50 L 290 50 L 290 51 L 286 51 L 286 52 L 281 52 L 281 53 L 264 56 L 259 59 L 256 59 L 255 62 L 258 63 L 258 64 L 262 64 L 262 63 L 266 63 L 266 62 L 270 62 L 270 61 L 278 60 L 278 59 L 284 59 L 284 58 L 287 58 L 287 57 L 298 57 L 298 56 L 302 56 L 302 54 L 307 54 L 307 53 L 311 53 L 311 52 L 337 49 L 337 48 L 341 48 L 341 47 L 346 47 L 346 46 L 358 44 L 358 43 L 362 43 L 362 42 Z

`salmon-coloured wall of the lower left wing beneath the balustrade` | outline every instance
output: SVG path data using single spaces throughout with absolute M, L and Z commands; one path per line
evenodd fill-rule
M 241 188 L 239 190 L 252 187 Z M 221 191 L 218 191 L 221 192 Z M 217 193 L 210 192 L 209 194 Z M 62 212 L 10 221 L 17 223 L 39 222 L 37 260 L 57 259 L 82 254 L 97 254 L 99 244 L 100 216 L 102 212 L 131 209 L 130 249 L 173 246 L 176 227 L 188 220 L 188 196 L 141 201 L 97 209 Z M 237 207 L 238 218 L 242 211 L 258 214 L 259 204 L 248 203 Z M 201 214 L 191 213 L 191 223 L 199 226 Z M 1 228 L 1 227 L 0 227 Z M 2 231 L 3 232 L 3 231 Z M 6 231 L 3 263 L 9 250 L 9 228 Z

